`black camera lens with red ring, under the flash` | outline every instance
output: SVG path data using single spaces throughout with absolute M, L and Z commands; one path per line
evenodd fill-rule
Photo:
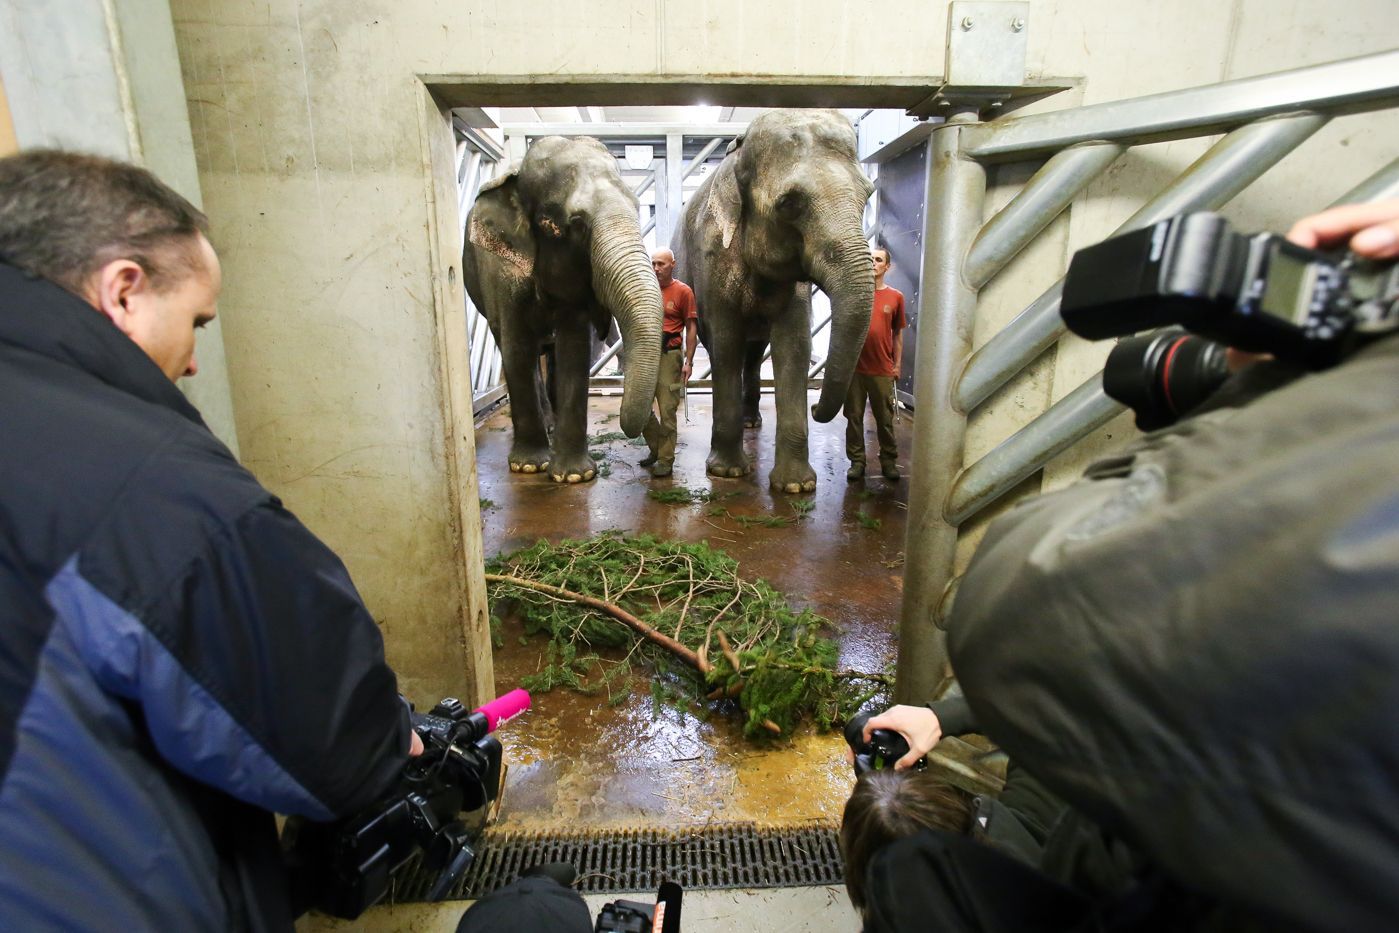
M 1228 379 L 1223 344 L 1184 330 L 1126 337 L 1108 354 L 1102 390 L 1136 413 L 1137 427 L 1175 424 Z

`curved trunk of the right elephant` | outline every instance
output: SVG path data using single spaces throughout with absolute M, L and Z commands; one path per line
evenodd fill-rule
M 839 225 L 839 234 L 817 241 L 820 248 L 809 256 L 811 280 L 831 299 L 831 343 L 825 357 L 821 397 L 811 407 L 811 417 L 830 421 L 845 404 L 845 393 L 855 373 L 855 362 L 865 348 L 874 306 L 874 270 L 870 249 L 858 211 Z

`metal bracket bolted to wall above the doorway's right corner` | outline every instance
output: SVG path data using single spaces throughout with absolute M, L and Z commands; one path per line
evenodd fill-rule
M 908 112 L 930 117 L 975 109 L 982 116 L 1000 116 L 1072 87 L 1025 81 L 1028 38 L 1025 0 L 954 0 L 947 7 L 943 84 Z

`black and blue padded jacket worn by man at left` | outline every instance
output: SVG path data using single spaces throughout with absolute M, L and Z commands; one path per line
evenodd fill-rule
M 402 771 L 344 567 L 106 318 L 0 263 L 0 916 L 290 929 L 271 811 Z

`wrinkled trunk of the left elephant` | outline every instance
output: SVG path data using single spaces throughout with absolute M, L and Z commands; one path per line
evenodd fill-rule
M 621 390 L 621 429 L 635 438 L 651 417 L 660 366 L 660 285 L 641 241 L 635 213 L 618 211 L 593 222 L 593 292 L 617 319 L 627 372 Z

